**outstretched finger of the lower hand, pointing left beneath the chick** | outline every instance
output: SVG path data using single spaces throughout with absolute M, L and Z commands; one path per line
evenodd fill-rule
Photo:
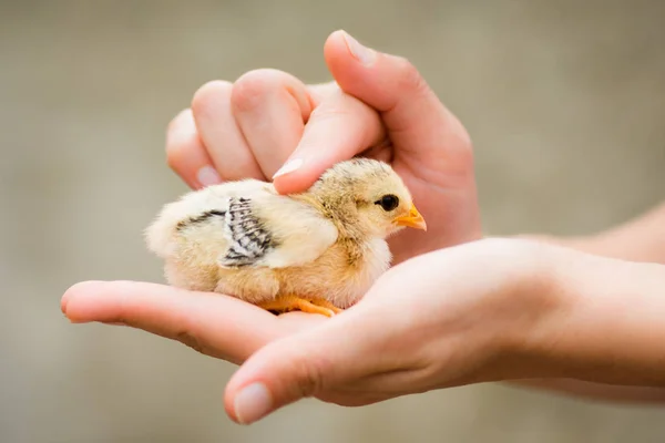
M 70 321 L 124 323 L 234 363 L 279 337 L 277 318 L 238 299 L 133 281 L 88 281 L 62 297 Z

